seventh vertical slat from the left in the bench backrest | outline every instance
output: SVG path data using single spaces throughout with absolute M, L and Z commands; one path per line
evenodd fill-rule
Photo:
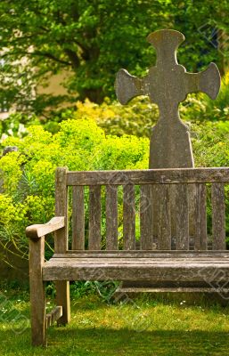
M 189 249 L 189 208 L 187 184 L 176 186 L 176 250 Z

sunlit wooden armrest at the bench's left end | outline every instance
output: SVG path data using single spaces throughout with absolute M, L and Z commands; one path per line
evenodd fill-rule
M 64 227 L 64 216 L 55 216 L 48 223 L 30 225 L 26 228 L 26 236 L 29 239 L 40 239 L 50 232 Z

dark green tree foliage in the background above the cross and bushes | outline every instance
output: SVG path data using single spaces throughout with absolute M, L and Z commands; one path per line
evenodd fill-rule
M 62 101 L 113 98 L 120 68 L 143 76 L 154 63 L 145 38 L 159 28 L 184 32 L 178 56 L 189 71 L 210 61 L 223 71 L 228 10 L 217 0 L 2 0 L 1 101 L 40 116 Z M 34 95 L 37 85 L 61 71 L 69 73 L 68 95 Z

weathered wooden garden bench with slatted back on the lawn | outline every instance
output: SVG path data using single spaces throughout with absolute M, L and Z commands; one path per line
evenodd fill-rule
M 189 290 L 194 283 L 205 282 L 213 291 L 227 289 L 229 253 L 225 250 L 225 183 L 229 183 L 229 168 L 102 172 L 68 172 L 66 168 L 57 168 L 56 216 L 49 223 L 29 226 L 26 231 L 29 237 L 32 344 L 46 344 L 46 328 L 55 320 L 60 325 L 70 321 L 70 280 L 155 280 L 177 286 L 183 281 L 190 284 Z M 151 229 L 151 189 L 155 184 L 160 189 L 156 245 Z M 168 194 L 171 184 L 177 187 L 176 204 L 173 204 L 176 206 L 173 250 Z M 189 236 L 190 184 L 196 188 L 193 247 Z M 88 239 L 85 238 L 85 187 L 89 187 L 86 188 L 89 190 Z M 123 191 L 123 242 L 119 241 L 118 234 L 118 190 L 119 193 Z M 211 250 L 208 249 L 207 190 L 212 210 Z M 68 198 L 69 191 L 71 199 Z M 136 191 L 140 191 L 139 247 L 135 239 Z M 105 205 L 101 204 L 103 195 Z M 102 208 L 106 216 L 103 249 Z M 69 210 L 72 211 L 71 246 Z M 54 255 L 45 262 L 45 236 L 51 232 L 54 232 Z M 56 281 L 57 307 L 46 315 L 45 281 L 49 280 Z

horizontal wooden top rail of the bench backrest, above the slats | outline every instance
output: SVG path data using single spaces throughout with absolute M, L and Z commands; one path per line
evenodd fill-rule
M 229 182 L 229 168 L 168 168 L 67 173 L 67 185 L 126 185 Z

